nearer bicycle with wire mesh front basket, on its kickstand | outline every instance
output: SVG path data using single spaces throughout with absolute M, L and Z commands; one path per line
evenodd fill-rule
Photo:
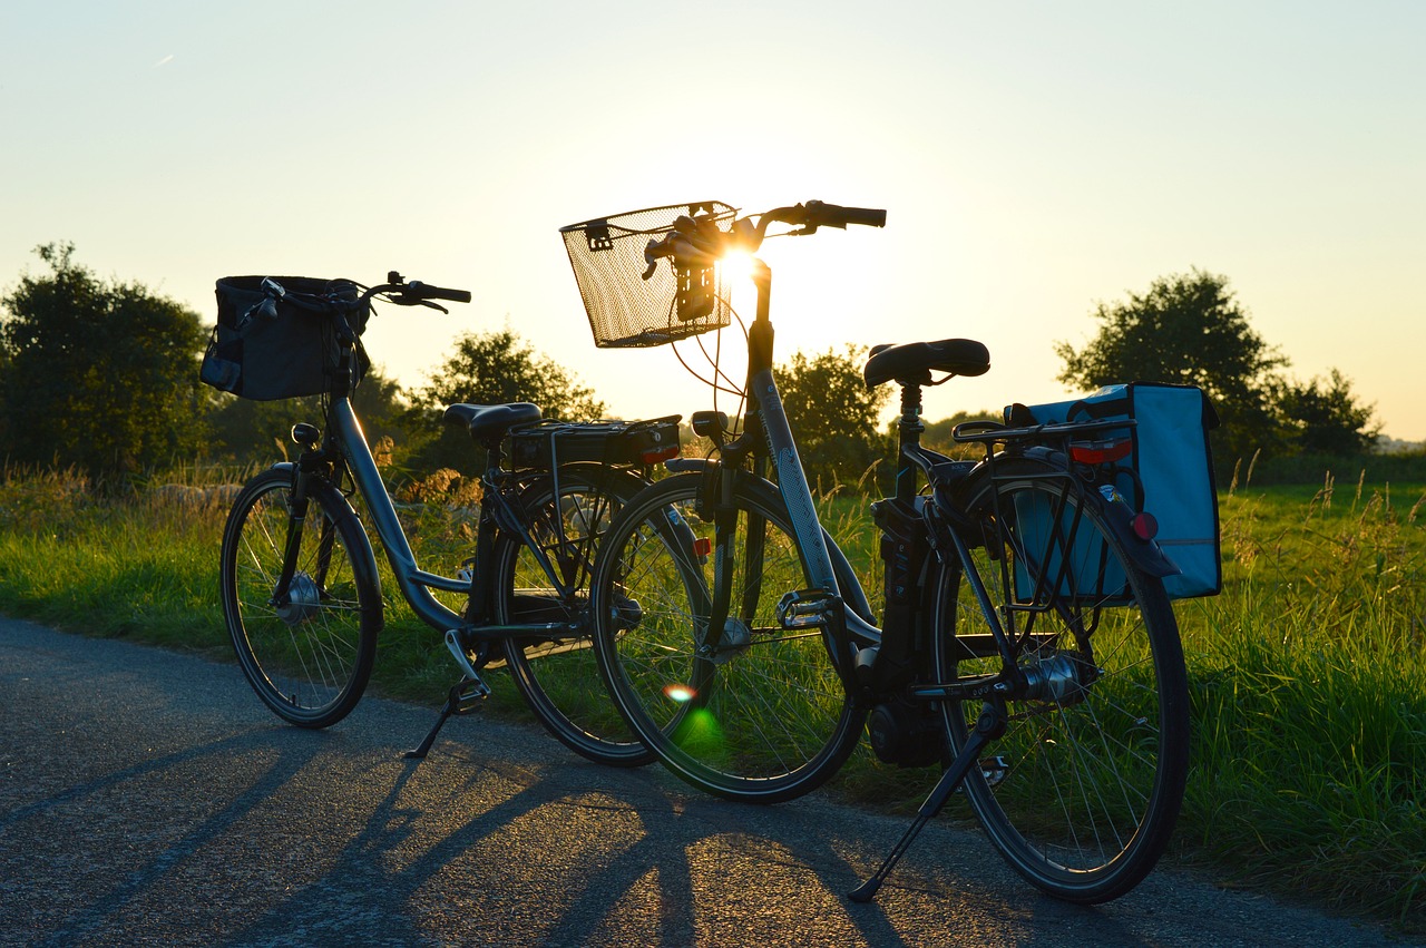
M 750 217 L 702 202 L 563 234 L 596 339 L 645 346 L 729 325 L 722 261 L 756 252 L 770 225 L 884 221 L 820 201 Z M 670 462 L 676 473 L 629 499 L 600 546 L 595 642 L 619 710 L 677 776 L 733 800 L 819 787 L 864 726 L 883 760 L 943 766 L 860 901 L 957 788 L 1034 885 L 1075 902 L 1129 891 L 1172 833 L 1189 741 L 1162 579 L 1178 567 L 1125 479 L 1135 422 L 964 423 L 954 439 L 983 459 L 951 459 L 920 443 L 921 391 L 988 371 L 985 346 L 873 349 L 867 385 L 901 391 L 896 490 L 871 505 L 877 627 L 799 462 L 761 261 L 753 282 L 740 429 L 694 413 L 712 456 Z

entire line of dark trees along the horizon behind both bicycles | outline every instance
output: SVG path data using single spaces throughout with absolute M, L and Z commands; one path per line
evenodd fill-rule
M 0 445 L 10 466 L 77 468 L 127 482 L 175 460 L 262 460 L 287 450 L 297 421 L 319 399 L 252 402 L 198 382 L 208 341 L 191 309 L 138 282 L 100 279 L 73 244 L 36 249 L 47 272 L 26 274 L 0 297 Z M 1219 458 L 1369 450 L 1379 433 L 1336 369 L 1301 382 L 1286 356 L 1249 325 L 1228 279 L 1194 269 L 1155 281 L 1091 314 L 1098 332 L 1081 348 L 1058 342 L 1060 379 L 1081 389 L 1127 381 L 1194 383 L 1224 426 Z M 857 346 L 793 354 L 779 381 L 810 482 L 829 489 L 884 485 L 894 439 L 878 419 L 888 386 L 861 382 Z M 606 406 L 563 366 L 509 329 L 468 334 L 426 383 L 404 389 L 379 369 L 354 393 L 374 443 L 389 438 L 398 473 L 468 468 L 469 439 L 441 423 L 452 402 L 540 405 L 549 418 L 600 418 Z M 927 443 L 947 446 L 964 413 L 930 423 Z M 880 466 L 878 466 L 880 465 Z

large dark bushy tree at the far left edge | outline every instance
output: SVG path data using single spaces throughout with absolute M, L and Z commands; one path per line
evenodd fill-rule
M 101 282 L 73 244 L 0 298 L 10 460 L 128 475 L 202 443 L 198 315 L 141 284 Z

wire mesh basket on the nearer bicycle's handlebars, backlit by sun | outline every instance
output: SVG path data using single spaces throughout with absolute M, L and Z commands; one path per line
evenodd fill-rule
M 643 251 L 673 230 L 680 217 L 709 221 L 722 231 L 737 211 L 722 201 L 672 204 L 602 217 L 559 230 L 585 299 L 589 328 L 600 349 L 666 345 L 722 329 L 732 319 L 727 277 L 719 267 L 677 269 L 649 264 Z M 689 305 L 697 299 L 699 305 Z

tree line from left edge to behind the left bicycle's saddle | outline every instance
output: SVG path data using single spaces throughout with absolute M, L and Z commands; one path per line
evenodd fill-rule
M 0 297 L 7 466 L 74 468 L 116 485 L 193 458 L 271 460 L 285 456 L 295 422 L 321 416 L 321 396 L 255 402 L 202 385 L 210 329 L 198 314 L 140 282 L 98 278 L 74 259 L 73 244 L 36 254 L 47 272 L 23 275 Z M 511 331 L 461 338 L 412 389 L 372 368 L 352 401 L 372 443 L 396 445 L 388 459 L 416 476 L 473 458 L 469 436 L 441 422 L 451 402 L 530 401 L 570 419 L 605 412 L 588 386 Z

